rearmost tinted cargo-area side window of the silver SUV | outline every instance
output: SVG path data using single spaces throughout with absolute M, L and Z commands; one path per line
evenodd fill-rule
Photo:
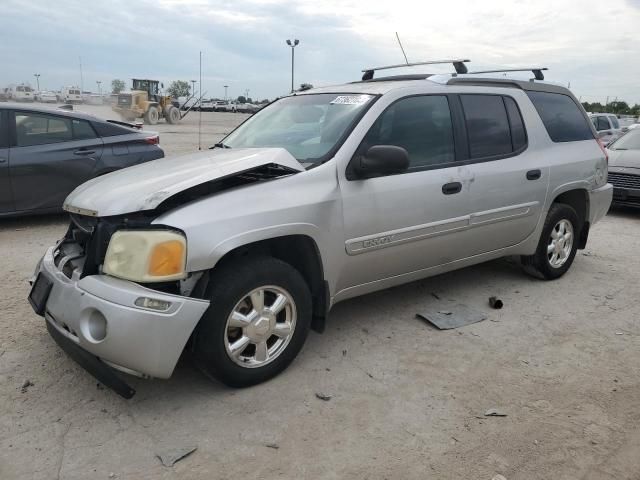
M 576 142 L 594 138 L 587 119 L 568 95 L 531 91 L 527 95 L 552 141 Z

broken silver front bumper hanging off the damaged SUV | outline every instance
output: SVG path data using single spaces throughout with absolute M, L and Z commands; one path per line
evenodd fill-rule
M 74 273 L 68 278 L 56 267 L 53 252 L 47 251 L 39 267 L 39 274 L 51 282 L 43 309 L 48 328 L 115 369 L 170 377 L 209 302 L 107 275 L 79 279 Z M 144 298 L 167 302 L 168 307 L 157 311 L 136 305 Z

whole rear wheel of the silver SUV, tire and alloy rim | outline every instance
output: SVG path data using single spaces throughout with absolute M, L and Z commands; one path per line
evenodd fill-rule
M 544 222 L 536 253 L 522 256 L 525 272 L 543 280 L 554 280 L 571 267 L 578 250 L 581 223 L 569 205 L 554 203 Z

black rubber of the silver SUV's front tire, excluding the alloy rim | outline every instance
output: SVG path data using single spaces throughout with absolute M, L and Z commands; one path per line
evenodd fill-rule
M 288 263 L 276 258 L 248 257 L 214 270 L 209 286 L 211 306 L 194 333 L 194 357 L 198 367 L 207 376 L 230 387 L 256 385 L 287 368 L 302 348 L 311 325 L 311 293 L 302 275 Z M 227 352 L 227 321 L 249 292 L 264 286 L 278 287 L 289 293 L 295 305 L 295 327 L 289 343 L 273 360 L 262 366 L 248 368 L 232 360 Z

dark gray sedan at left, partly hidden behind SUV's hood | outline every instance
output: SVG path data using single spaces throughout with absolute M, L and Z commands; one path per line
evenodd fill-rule
M 0 216 L 53 213 L 85 181 L 164 157 L 156 133 L 79 112 L 0 106 Z

